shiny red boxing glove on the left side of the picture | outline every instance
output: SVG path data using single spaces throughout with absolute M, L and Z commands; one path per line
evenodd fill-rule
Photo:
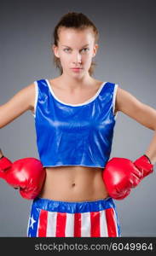
M 26 199 L 34 199 L 43 187 L 45 169 L 40 160 L 24 158 L 11 163 L 3 156 L 0 159 L 0 177 L 9 185 L 20 189 L 20 195 Z

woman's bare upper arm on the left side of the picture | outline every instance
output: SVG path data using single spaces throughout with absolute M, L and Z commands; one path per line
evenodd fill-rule
M 35 100 L 34 84 L 29 84 L 18 91 L 9 102 L 0 106 L 0 128 L 8 125 L 27 110 L 32 110 Z

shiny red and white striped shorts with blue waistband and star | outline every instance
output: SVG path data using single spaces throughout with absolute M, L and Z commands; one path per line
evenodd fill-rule
M 28 237 L 118 237 L 120 226 L 112 198 L 97 201 L 32 201 Z

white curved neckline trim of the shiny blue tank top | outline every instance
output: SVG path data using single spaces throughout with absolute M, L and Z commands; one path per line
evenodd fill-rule
M 45 81 L 47 82 L 48 86 L 49 86 L 49 90 L 52 94 L 52 96 L 55 97 L 55 100 L 57 102 L 61 102 L 62 104 L 66 105 L 66 106 L 72 106 L 72 107 L 78 107 L 78 106 L 84 106 L 90 102 L 93 102 L 95 100 L 95 98 L 100 94 L 102 88 L 104 87 L 105 84 L 107 84 L 107 82 L 103 82 L 101 84 L 101 86 L 99 87 L 99 89 L 97 90 L 97 92 L 95 93 L 95 96 L 92 96 L 88 101 L 84 102 L 84 103 L 80 103 L 80 104 L 70 104 L 70 103 L 65 103 L 65 102 L 62 102 L 61 100 L 59 100 L 56 96 L 55 96 L 55 93 L 51 87 L 51 85 L 49 84 L 49 80 L 48 79 L 45 79 Z

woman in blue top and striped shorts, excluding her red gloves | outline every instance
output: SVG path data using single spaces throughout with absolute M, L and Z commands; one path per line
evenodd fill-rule
M 92 77 L 98 31 L 88 17 L 64 15 L 55 26 L 54 40 L 61 75 L 35 81 L 0 108 L 1 127 L 32 111 L 46 170 L 43 189 L 32 201 L 27 236 L 120 236 L 116 208 L 103 180 L 117 113 L 155 130 L 156 111 L 118 84 Z M 155 142 L 154 137 L 146 152 L 152 164 Z

